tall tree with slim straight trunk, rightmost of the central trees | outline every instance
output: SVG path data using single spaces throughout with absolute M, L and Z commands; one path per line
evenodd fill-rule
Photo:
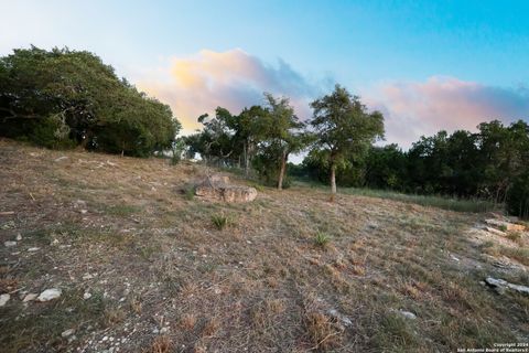
M 311 104 L 314 115 L 310 121 L 316 142 L 314 149 L 330 170 L 331 200 L 336 194 L 336 169 L 349 158 L 365 153 L 368 147 L 384 137 L 384 117 L 379 111 L 368 113 L 359 97 L 352 96 L 339 85 L 330 95 Z

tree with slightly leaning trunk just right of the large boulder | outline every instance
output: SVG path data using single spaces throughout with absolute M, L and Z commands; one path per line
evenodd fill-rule
M 306 146 L 306 135 L 302 133 L 304 124 L 294 114 L 294 108 L 287 97 L 276 98 L 264 94 L 266 114 L 256 121 L 259 131 L 259 154 L 261 174 L 270 175 L 277 170 L 277 186 L 283 189 L 287 163 L 290 153 L 299 152 Z

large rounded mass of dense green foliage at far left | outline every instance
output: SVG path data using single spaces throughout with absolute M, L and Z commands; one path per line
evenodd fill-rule
M 180 130 L 169 106 L 89 52 L 14 50 L 0 58 L 0 76 L 1 136 L 148 156 L 169 148 Z

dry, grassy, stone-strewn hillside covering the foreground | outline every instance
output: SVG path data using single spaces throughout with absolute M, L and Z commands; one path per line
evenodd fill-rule
M 455 352 L 529 336 L 529 298 L 482 282 L 528 284 L 528 235 L 477 229 L 487 214 L 303 186 L 206 203 L 180 192 L 199 165 L 8 140 L 0 165 L 2 352 Z M 48 288 L 62 296 L 21 300 Z

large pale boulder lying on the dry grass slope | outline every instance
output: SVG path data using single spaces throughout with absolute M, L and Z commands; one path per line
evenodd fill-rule
M 230 184 L 225 175 L 208 175 L 195 185 L 195 195 L 208 201 L 250 202 L 256 200 L 255 188 Z

